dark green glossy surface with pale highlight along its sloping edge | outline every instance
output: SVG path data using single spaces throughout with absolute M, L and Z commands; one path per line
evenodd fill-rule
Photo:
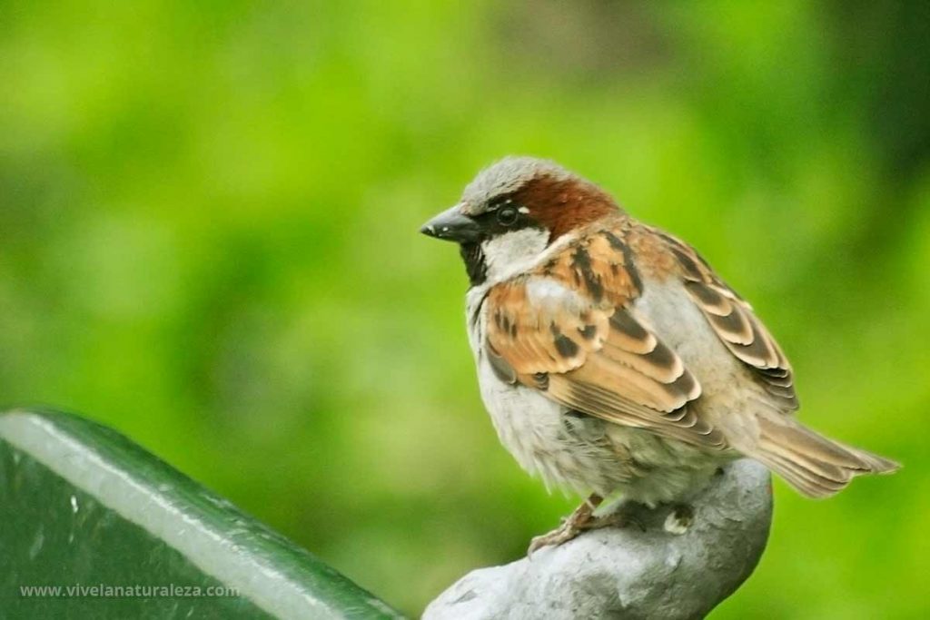
M 136 617 L 400 616 L 113 430 L 0 415 L 0 618 Z

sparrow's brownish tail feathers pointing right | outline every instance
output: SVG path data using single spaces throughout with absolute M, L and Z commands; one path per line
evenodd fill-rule
M 855 476 L 891 473 L 900 466 L 865 450 L 834 442 L 792 418 L 759 418 L 760 436 L 751 456 L 804 495 L 828 497 Z

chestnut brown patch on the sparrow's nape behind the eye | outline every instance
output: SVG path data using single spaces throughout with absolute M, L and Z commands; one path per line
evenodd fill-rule
M 527 181 L 513 199 L 550 231 L 550 243 L 610 213 L 620 213 L 610 195 L 582 178 L 541 176 Z

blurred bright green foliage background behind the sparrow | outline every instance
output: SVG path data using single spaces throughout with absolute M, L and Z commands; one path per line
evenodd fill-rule
M 926 3 L 2 2 L 0 404 L 121 429 L 408 613 L 574 499 L 498 445 L 455 249 L 507 153 L 695 244 L 812 426 L 713 618 L 926 617 Z

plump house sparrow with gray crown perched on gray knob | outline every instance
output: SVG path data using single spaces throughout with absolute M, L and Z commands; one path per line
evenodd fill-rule
M 560 165 L 505 158 L 421 231 L 459 244 L 500 441 L 547 486 L 591 494 L 531 551 L 603 526 L 593 508 L 616 492 L 686 503 L 740 456 L 811 497 L 898 467 L 798 422 L 790 363 L 750 304 Z

